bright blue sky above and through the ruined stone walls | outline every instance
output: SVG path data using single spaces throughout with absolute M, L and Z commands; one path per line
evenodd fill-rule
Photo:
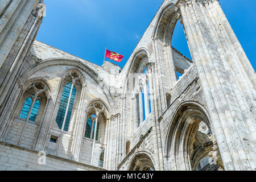
M 46 17 L 36 40 L 98 65 L 103 64 L 107 47 L 124 56 L 121 63 L 116 63 L 123 67 L 162 2 L 44 0 Z M 255 70 L 256 1 L 220 0 L 220 3 Z M 175 28 L 172 46 L 191 57 L 180 24 Z

